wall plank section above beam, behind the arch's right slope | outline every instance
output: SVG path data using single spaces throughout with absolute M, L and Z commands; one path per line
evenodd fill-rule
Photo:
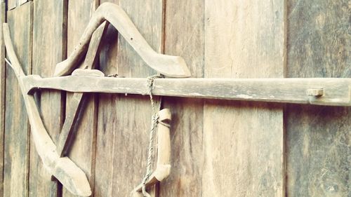
M 162 1 L 147 0 L 140 4 L 140 1 L 119 0 L 119 6 L 126 11 L 150 46 L 160 52 L 162 47 Z M 150 67 L 145 67 L 145 62 L 122 36 L 119 36 L 118 51 L 119 75 L 146 77 L 156 74 Z

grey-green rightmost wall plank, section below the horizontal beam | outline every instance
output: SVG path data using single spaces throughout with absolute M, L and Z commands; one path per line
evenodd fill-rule
M 350 107 L 287 108 L 289 196 L 350 196 Z

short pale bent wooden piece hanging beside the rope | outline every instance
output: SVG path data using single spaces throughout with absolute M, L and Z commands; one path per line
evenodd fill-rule
M 145 183 L 146 187 L 153 186 L 168 177 L 171 172 L 171 137 L 169 135 L 171 123 L 171 111 L 162 109 L 159 111 L 159 124 L 157 125 L 157 166 L 150 178 Z M 140 193 L 143 184 L 139 184 L 133 189 L 133 197 L 142 197 Z

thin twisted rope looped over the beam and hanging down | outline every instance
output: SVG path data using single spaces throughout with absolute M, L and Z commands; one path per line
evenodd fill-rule
M 143 179 L 143 196 L 144 197 L 151 197 L 149 193 L 146 191 L 146 182 L 149 179 L 150 175 L 152 174 L 152 156 L 154 154 L 154 133 L 157 128 L 157 123 L 159 123 L 159 115 L 155 109 L 154 98 L 152 96 L 152 90 L 154 89 L 154 79 L 161 78 L 162 76 L 153 75 L 147 77 L 146 86 L 148 88 L 148 94 L 150 95 L 150 102 L 151 102 L 151 109 L 152 109 L 152 118 L 151 118 L 151 129 L 150 129 L 150 139 L 149 139 L 149 149 L 147 154 L 147 168 L 146 168 L 146 175 Z M 158 110 L 161 109 L 161 99 L 159 98 L 159 107 Z

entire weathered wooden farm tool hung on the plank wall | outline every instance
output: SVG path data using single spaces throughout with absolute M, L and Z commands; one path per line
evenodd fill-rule
M 93 68 L 107 22 L 116 27 L 119 34 L 124 36 L 124 39 L 131 44 L 146 64 L 157 72 L 172 77 L 190 76 L 190 71 L 182 57 L 156 53 L 138 32 L 126 13 L 115 4 L 102 4 L 95 11 L 81 36 L 79 45 L 67 60 L 56 65 L 55 76 L 57 77 L 52 78 L 25 76 L 13 50 L 8 25 L 4 24 L 4 40 L 8 57 L 20 83 L 38 154 L 48 171 L 63 186 L 78 196 L 90 196 L 91 189 L 84 172 L 65 157 L 65 153 L 69 147 L 69 137 L 77 121 L 77 111 L 81 107 L 84 93 L 145 94 L 147 92 L 145 79 L 110 78 L 104 77 L 104 74 L 98 70 L 86 70 Z M 86 59 L 79 67 L 83 57 Z M 64 76 L 71 73 L 72 76 Z M 71 108 L 67 111 L 57 146 L 44 128 L 32 95 L 34 90 L 42 88 L 74 92 L 69 104 Z M 351 106 L 350 88 L 351 79 L 154 79 L 152 94 Z M 161 123 L 158 129 L 157 168 L 147 179 L 145 186 L 161 182 L 171 170 L 169 128 L 166 126 L 166 122 L 171 120 L 171 113 L 168 110 L 159 113 Z M 142 187 L 143 184 L 137 186 L 132 192 L 133 195 L 140 196 Z

